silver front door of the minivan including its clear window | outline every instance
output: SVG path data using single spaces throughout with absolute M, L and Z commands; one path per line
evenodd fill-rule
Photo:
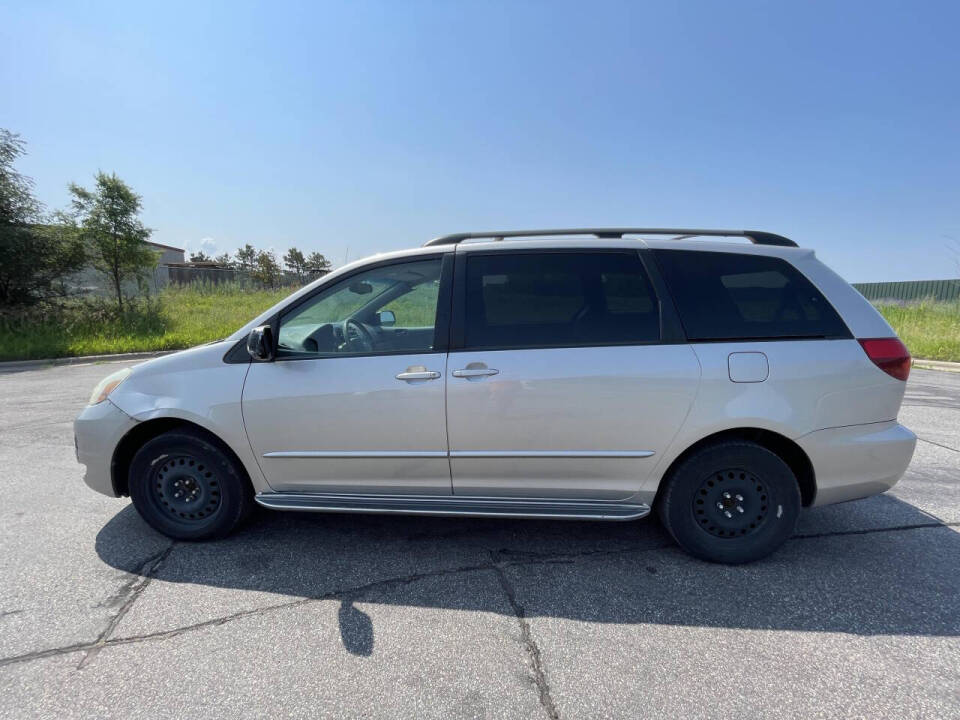
M 243 389 L 275 491 L 450 494 L 450 264 L 378 264 L 280 316 L 276 360 L 253 363 Z

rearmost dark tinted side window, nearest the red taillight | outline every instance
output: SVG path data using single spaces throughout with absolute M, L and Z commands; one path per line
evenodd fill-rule
M 823 294 L 785 260 L 654 252 L 691 341 L 850 337 Z

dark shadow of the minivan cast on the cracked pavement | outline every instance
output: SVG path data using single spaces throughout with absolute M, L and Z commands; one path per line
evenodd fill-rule
M 132 506 L 96 540 L 104 562 L 134 573 L 158 547 L 165 539 Z M 462 573 L 489 575 L 489 592 L 457 592 L 449 576 Z M 343 645 L 355 655 L 370 655 L 374 645 L 373 622 L 355 603 L 600 623 L 960 635 L 960 534 L 890 495 L 807 511 L 779 552 L 738 567 L 689 558 L 652 519 L 260 511 L 226 540 L 177 544 L 151 577 L 337 599 Z M 428 578 L 439 582 L 414 588 Z

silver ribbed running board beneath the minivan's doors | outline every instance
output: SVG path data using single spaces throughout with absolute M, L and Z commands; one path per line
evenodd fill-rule
M 474 517 L 556 518 L 565 520 L 635 520 L 650 513 L 643 504 L 599 500 L 541 500 L 455 495 L 348 495 L 337 493 L 258 493 L 258 503 L 272 510 L 396 513 L 400 515 L 469 515 Z

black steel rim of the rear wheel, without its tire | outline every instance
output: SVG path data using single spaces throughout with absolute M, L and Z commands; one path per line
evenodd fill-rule
M 728 468 L 704 478 L 693 498 L 693 515 L 711 535 L 733 538 L 760 527 L 769 506 L 760 478 L 747 470 Z

